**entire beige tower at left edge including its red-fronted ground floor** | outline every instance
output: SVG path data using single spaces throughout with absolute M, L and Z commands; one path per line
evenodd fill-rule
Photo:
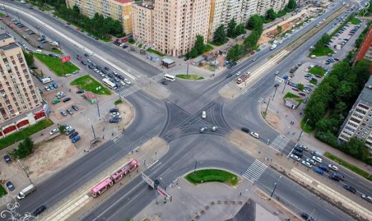
M 0 34 L 0 137 L 47 117 L 25 57 L 14 38 Z

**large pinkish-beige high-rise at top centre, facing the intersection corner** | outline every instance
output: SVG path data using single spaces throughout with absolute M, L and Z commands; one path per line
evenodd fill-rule
M 210 0 L 156 0 L 149 5 L 148 1 L 132 3 L 133 36 L 137 41 L 172 56 L 191 50 L 196 35 L 203 36 L 207 43 Z

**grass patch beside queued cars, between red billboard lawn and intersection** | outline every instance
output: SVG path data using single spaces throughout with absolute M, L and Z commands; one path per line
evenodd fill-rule
M 71 81 L 70 85 L 79 86 L 79 88 L 87 91 L 92 91 L 96 95 L 111 95 L 111 91 L 105 88 L 99 81 L 96 81 L 90 75 L 84 75 L 77 79 Z M 101 87 L 101 89 L 96 90 L 96 88 Z

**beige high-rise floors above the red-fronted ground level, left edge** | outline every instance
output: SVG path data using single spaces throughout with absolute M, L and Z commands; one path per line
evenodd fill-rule
M 0 124 L 41 106 L 20 46 L 6 34 L 0 34 Z

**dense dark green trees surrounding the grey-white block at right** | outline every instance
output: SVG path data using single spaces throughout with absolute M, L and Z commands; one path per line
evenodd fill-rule
M 349 60 L 350 57 L 335 64 L 330 75 L 314 90 L 304 108 L 304 119 L 309 119 L 308 124 L 316 128 L 315 136 L 322 142 L 372 164 L 364 142 L 353 138 L 345 143 L 337 137 L 340 126 L 370 77 L 369 61 L 358 61 L 351 66 Z

